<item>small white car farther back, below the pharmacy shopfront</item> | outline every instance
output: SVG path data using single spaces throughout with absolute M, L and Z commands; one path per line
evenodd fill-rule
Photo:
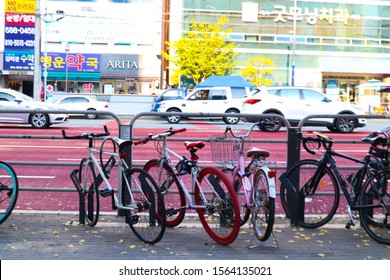
M 57 106 L 64 110 L 73 111 L 90 111 L 85 117 L 88 119 L 97 119 L 98 114 L 94 114 L 94 111 L 108 111 L 108 102 L 98 101 L 92 96 L 66 96 L 54 102 Z M 77 115 L 69 112 L 69 115 Z

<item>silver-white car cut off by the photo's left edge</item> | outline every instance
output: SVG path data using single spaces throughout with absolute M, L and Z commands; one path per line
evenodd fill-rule
M 68 121 L 66 114 L 46 114 L 39 110 L 58 111 L 54 104 L 36 101 L 21 92 L 0 88 L 0 110 L 36 110 L 34 113 L 0 113 L 1 123 L 30 124 L 34 128 L 46 128 Z

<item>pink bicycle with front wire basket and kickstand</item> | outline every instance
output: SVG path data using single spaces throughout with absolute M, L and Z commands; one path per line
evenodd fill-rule
M 222 137 L 211 137 L 213 161 L 222 164 L 229 175 L 241 204 L 241 226 L 251 217 L 254 235 L 260 241 L 266 241 L 273 229 L 275 219 L 276 170 L 268 166 L 276 164 L 265 159 L 269 152 L 257 148 L 246 153 L 251 158 L 245 166 L 244 150 L 247 150 L 247 140 L 255 123 L 245 135 L 236 135 L 230 126 L 226 127 Z M 233 136 L 230 137 L 228 133 Z

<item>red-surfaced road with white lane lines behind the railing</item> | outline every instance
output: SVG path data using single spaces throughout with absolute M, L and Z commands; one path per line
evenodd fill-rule
M 128 124 L 129 118 L 122 120 L 123 124 Z M 48 129 L 37 130 L 29 126 L 2 125 L 0 127 L 0 153 L 1 160 L 11 162 L 14 166 L 22 191 L 18 198 L 17 210 L 51 210 L 51 211 L 77 211 L 78 194 L 74 192 L 74 186 L 69 178 L 69 174 L 77 168 L 78 162 L 87 155 L 87 142 L 80 140 L 64 140 L 61 138 L 62 129 L 70 135 L 77 135 L 83 132 L 99 132 L 102 126 L 107 125 L 112 135 L 118 135 L 118 125 L 115 120 L 98 119 L 84 120 L 82 118 L 71 119 L 69 123 L 54 125 Z M 388 126 L 384 120 L 369 120 L 369 126 L 364 129 L 357 129 L 351 134 L 330 133 L 322 129 L 330 137 L 336 140 L 356 140 L 360 141 L 367 136 L 369 130 L 377 130 Z M 165 131 L 172 125 L 163 119 L 139 120 L 134 125 L 134 136 L 144 137 L 149 133 L 159 133 Z M 234 126 L 244 133 L 249 124 L 239 124 Z M 220 121 L 188 121 L 172 126 L 174 128 L 186 127 L 185 133 L 178 134 L 182 139 L 202 138 L 207 139 L 211 135 L 222 135 L 226 124 Z M 318 128 L 316 128 L 318 130 Z M 310 128 L 305 128 L 310 131 Z M 46 139 L 31 139 L 31 136 L 40 135 Z M 19 138 L 10 138 L 18 136 Z M 271 141 L 272 143 L 252 144 L 271 152 L 270 160 L 276 161 L 281 174 L 282 166 L 286 165 L 287 145 L 285 143 L 275 143 L 275 141 L 286 140 L 286 130 L 277 133 L 266 133 L 254 131 L 253 139 Z M 182 141 L 172 142 L 170 147 L 179 154 L 187 154 Z M 356 157 L 363 157 L 367 152 L 367 145 L 337 144 L 339 151 L 351 154 Z M 201 164 L 212 164 L 210 147 L 206 146 L 198 152 Z M 143 165 L 147 160 L 156 158 L 157 152 L 153 143 L 148 143 L 142 147 L 135 147 L 133 151 L 133 163 Z M 29 165 L 22 164 L 24 162 Z M 37 165 L 37 163 L 45 165 Z M 37 189 L 65 189 L 66 192 L 31 191 Z M 72 192 L 68 191 L 72 190 Z M 105 210 L 110 210 L 107 203 Z

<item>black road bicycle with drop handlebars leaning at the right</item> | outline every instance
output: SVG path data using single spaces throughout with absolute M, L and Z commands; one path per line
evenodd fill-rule
M 340 188 L 347 200 L 349 221 L 354 225 L 359 213 L 360 223 L 375 241 L 390 244 L 390 128 L 370 134 L 363 142 L 371 145 L 364 159 L 357 159 L 332 149 L 334 141 L 320 133 L 316 138 L 299 134 L 304 149 L 310 154 L 315 150 L 323 153 L 318 160 L 304 159 L 293 164 L 280 177 L 280 198 L 287 216 L 291 217 L 288 191 L 291 186 L 297 191 L 298 225 L 317 228 L 328 223 L 337 211 Z M 360 164 L 356 174 L 343 176 L 334 157 Z M 299 188 L 295 188 L 298 186 Z

